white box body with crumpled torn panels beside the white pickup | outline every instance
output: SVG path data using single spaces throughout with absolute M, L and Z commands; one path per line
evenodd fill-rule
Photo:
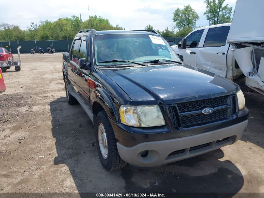
M 246 85 L 264 95 L 263 8 L 263 0 L 237 0 L 227 42 Z

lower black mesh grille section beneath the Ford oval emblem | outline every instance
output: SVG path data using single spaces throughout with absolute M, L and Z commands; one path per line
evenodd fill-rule
M 192 114 L 181 116 L 183 126 L 207 122 L 225 117 L 227 117 L 227 109 L 215 110 L 211 114 Z

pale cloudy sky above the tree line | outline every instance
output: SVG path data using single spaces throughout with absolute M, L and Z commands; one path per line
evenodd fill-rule
M 144 29 L 151 24 L 156 30 L 172 30 L 175 23 L 172 21 L 173 12 L 177 8 L 182 9 L 184 5 L 190 4 L 198 13 L 200 20 L 196 26 L 206 26 L 209 21 L 203 15 L 206 10 L 204 0 L 45 0 L 28 1 L 12 0 L 1 2 L 5 12 L 0 12 L 0 23 L 11 23 L 19 25 L 21 29 L 27 29 L 31 21 L 39 24 L 40 20 L 56 21 L 58 18 L 80 16 L 82 20 L 90 16 L 101 16 L 107 18 L 115 26 L 119 25 L 126 30 Z M 234 10 L 236 0 L 226 0 Z

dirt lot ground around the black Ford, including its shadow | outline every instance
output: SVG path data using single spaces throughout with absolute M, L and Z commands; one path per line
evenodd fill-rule
M 263 192 L 248 197 L 264 195 L 264 97 L 245 94 L 249 125 L 233 145 L 157 168 L 127 165 L 108 172 L 97 157 L 92 121 L 79 104 L 66 102 L 62 54 L 22 54 L 21 58 L 20 72 L 11 68 L 3 74 L 4 94 L 10 98 L 0 101 L 2 195 L 172 189 L 229 192 L 227 197 L 241 197 L 238 192 Z

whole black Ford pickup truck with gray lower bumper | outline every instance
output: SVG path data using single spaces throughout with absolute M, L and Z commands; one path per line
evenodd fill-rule
M 69 104 L 95 127 L 107 170 L 154 167 L 239 140 L 248 109 L 239 86 L 182 63 L 153 30 L 81 30 L 62 74 Z

